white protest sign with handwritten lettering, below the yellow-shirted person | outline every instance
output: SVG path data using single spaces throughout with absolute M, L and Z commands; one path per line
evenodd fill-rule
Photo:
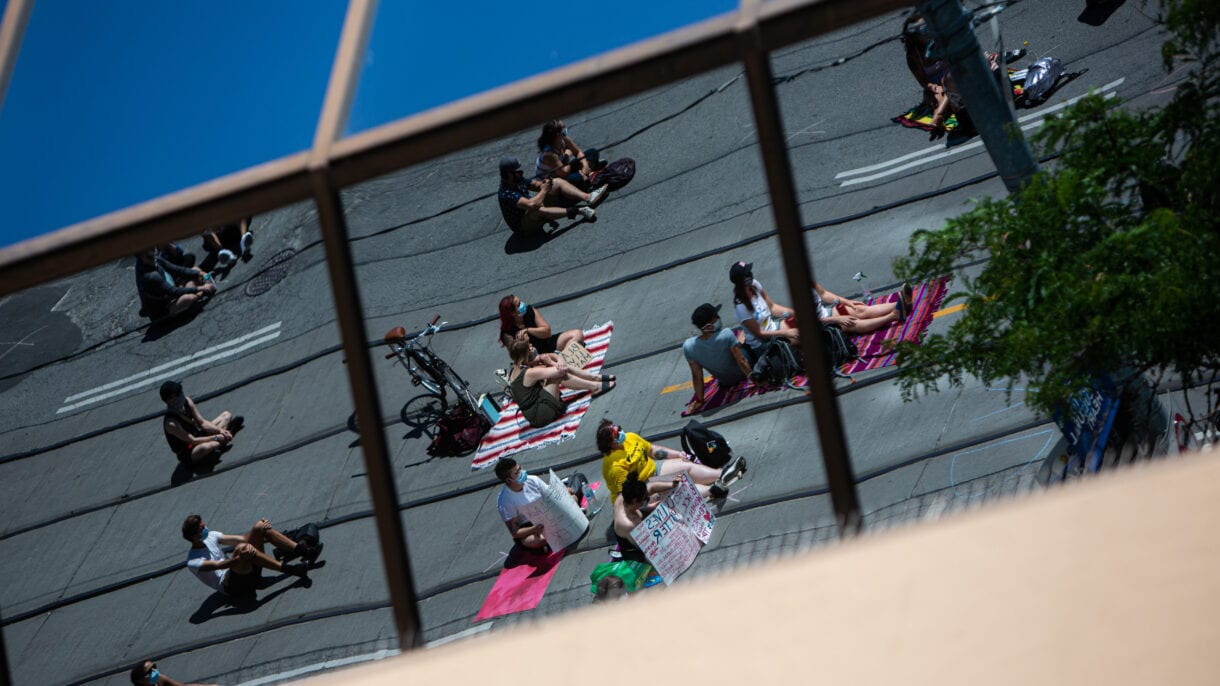
M 678 487 L 631 531 L 631 538 L 669 586 L 694 563 L 715 524 L 716 516 L 683 474 Z

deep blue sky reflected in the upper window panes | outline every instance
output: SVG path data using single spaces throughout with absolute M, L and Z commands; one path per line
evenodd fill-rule
M 349 129 L 736 6 L 382 0 Z M 39 0 L 0 110 L 0 248 L 309 148 L 344 12 Z

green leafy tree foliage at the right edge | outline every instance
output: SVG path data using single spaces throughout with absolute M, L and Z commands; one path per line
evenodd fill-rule
M 895 260 L 909 280 L 983 260 L 958 276 L 966 309 L 949 331 L 899 348 L 905 398 L 944 378 L 1025 377 L 1027 402 L 1053 411 L 1102 372 L 1220 372 L 1220 2 L 1161 9 L 1181 79 L 1166 106 L 1081 100 L 1035 137 L 1057 162 L 917 232 Z

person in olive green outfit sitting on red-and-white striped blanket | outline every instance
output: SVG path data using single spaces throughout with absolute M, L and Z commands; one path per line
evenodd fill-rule
M 529 426 L 547 426 L 564 416 L 567 405 L 560 399 L 561 388 L 593 391 L 597 397 L 615 387 L 614 375 L 572 369 L 555 353 L 539 354 L 528 341 L 512 341 L 509 356 L 509 393 Z

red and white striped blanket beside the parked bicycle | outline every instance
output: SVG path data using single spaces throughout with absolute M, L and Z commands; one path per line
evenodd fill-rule
M 610 334 L 614 332 L 614 322 L 608 321 L 601 326 L 593 327 L 584 332 L 584 344 L 593 359 L 584 366 L 584 371 L 600 374 L 601 364 L 605 360 L 606 350 L 610 349 Z M 483 469 L 495 464 L 505 455 L 520 453 L 529 448 L 560 443 L 576 436 L 576 430 L 581 427 L 584 413 L 589 411 L 589 403 L 593 395 L 586 391 L 565 391 L 564 402 L 567 403 L 567 411 L 554 422 L 534 428 L 521 416 L 521 409 L 516 403 L 509 403 L 500 411 L 500 420 L 487 432 L 475 459 L 471 463 L 472 470 Z

